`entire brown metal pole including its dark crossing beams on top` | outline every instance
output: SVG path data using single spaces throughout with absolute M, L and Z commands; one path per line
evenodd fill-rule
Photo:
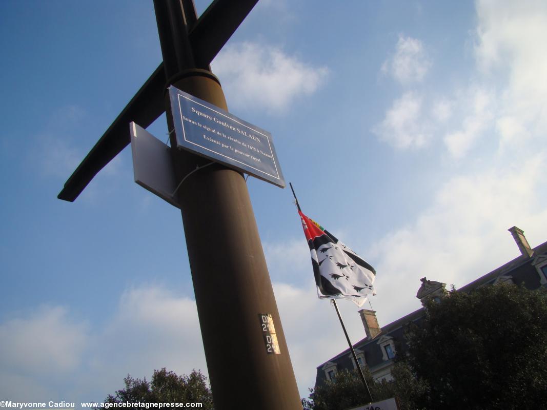
M 257 1 L 214 0 L 197 19 L 193 0 L 154 0 L 164 61 L 67 180 L 59 198 L 74 201 L 129 143 L 129 121 L 146 127 L 158 118 L 165 82 L 226 109 L 209 63 Z M 176 147 L 167 93 L 165 110 Z M 216 163 L 196 171 L 211 161 L 172 151 L 215 408 L 301 410 L 245 179 Z

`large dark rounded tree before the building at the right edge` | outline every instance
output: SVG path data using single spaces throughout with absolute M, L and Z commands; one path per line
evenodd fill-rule
M 547 408 L 547 298 L 515 285 L 452 290 L 409 333 L 421 405 Z

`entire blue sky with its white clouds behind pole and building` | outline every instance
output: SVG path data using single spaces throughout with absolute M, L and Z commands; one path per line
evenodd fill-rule
M 545 38 L 542 1 L 260 0 L 212 68 L 304 213 L 375 266 L 385 325 L 420 307 L 420 278 L 458 288 L 519 255 L 509 227 L 547 240 Z M 161 61 L 152 2 L 0 2 L 0 55 L 0 400 L 206 372 L 181 215 L 133 183 L 130 149 L 56 198 Z M 167 139 L 165 117 L 148 131 Z M 290 190 L 247 185 L 305 396 L 347 345 Z

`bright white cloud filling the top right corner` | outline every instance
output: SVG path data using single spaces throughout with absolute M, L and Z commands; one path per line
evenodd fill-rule
M 482 72 L 507 74 L 498 130 L 502 146 L 515 148 L 514 138 L 544 138 L 547 133 L 547 3 L 478 1 L 475 56 Z

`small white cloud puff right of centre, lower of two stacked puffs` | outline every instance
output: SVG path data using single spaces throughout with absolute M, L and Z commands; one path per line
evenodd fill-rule
M 395 148 L 421 148 L 430 138 L 430 125 L 422 116 L 422 96 L 406 92 L 393 102 L 373 132 Z

